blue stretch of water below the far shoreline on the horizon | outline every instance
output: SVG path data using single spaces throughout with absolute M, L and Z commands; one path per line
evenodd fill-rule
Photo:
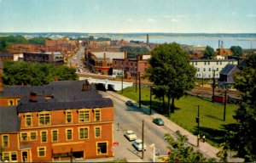
M 125 40 L 143 41 L 146 42 L 146 37 L 124 37 Z M 207 45 L 212 48 L 218 48 L 218 40 L 223 41 L 224 48 L 231 46 L 240 46 L 243 49 L 256 48 L 256 37 L 150 37 L 149 42 L 153 43 L 169 43 L 177 42 L 186 45 Z

